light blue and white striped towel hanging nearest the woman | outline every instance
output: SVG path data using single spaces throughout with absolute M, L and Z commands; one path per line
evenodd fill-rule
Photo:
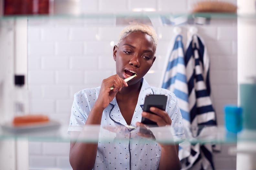
M 170 45 L 172 49 L 168 50 L 168 62 L 164 73 L 162 88 L 168 89 L 176 95 L 184 127 L 190 127 L 188 87 L 182 36 L 177 35 L 174 43 L 171 44 L 173 44 L 173 47 Z M 184 145 L 184 143 L 181 143 L 179 146 L 180 160 L 190 156 L 190 144 Z

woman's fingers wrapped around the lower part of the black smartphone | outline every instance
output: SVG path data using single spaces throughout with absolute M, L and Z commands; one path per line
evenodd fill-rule
M 142 116 L 144 118 L 148 118 L 148 119 L 156 122 L 158 126 L 171 125 L 172 120 L 166 111 L 158 109 L 156 107 L 151 107 L 150 111 L 155 114 L 144 111 L 144 112 L 142 112 Z

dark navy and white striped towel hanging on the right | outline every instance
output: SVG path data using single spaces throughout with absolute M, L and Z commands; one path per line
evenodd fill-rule
M 207 49 L 197 34 L 188 40 L 184 59 L 191 126 L 215 126 L 216 115 L 210 99 L 209 58 Z M 197 132 L 197 135 L 200 136 L 200 131 Z M 191 154 L 186 158 L 186 161 L 183 160 L 185 166 L 182 168 L 188 168 L 195 164 L 200 164 L 201 169 L 207 169 L 209 165 L 215 169 L 212 159 L 212 145 L 191 145 Z

